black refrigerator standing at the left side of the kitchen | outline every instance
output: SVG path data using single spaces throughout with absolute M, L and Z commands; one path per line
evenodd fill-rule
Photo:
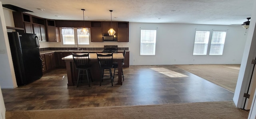
M 12 62 L 18 86 L 42 77 L 42 60 L 36 34 L 8 32 Z

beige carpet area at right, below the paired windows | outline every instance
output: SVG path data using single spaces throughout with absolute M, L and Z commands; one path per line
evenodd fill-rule
M 213 82 L 233 93 L 235 92 L 240 64 L 194 64 L 175 66 Z

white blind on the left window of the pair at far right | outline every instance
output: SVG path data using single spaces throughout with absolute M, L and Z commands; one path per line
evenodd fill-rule
M 196 31 L 193 55 L 206 55 L 210 31 Z

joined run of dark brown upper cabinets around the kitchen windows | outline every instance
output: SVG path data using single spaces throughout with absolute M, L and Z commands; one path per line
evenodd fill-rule
M 18 32 L 36 33 L 41 41 L 60 42 L 59 27 L 88 27 L 92 42 L 103 42 L 102 33 L 112 27 L 118 34 L 118 42 L 129 42 L 129 22 L 126 21 L 72 21 L 48 20 L 27 13 L 13 12 L 14 25 Z M 24 30 L 23 30 L 24 29 Z

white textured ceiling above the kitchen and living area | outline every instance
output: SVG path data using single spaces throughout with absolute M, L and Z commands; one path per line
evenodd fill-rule
M 255 0 L 0 1 L 33 11 L 26 12 L 28 14 L 54 20 L 83 20 L 81 9 L 85 9 L 86 21 L 110 21 L 109 10 L 113 10 L 112 21 L 230 25 L 247 21 Z

